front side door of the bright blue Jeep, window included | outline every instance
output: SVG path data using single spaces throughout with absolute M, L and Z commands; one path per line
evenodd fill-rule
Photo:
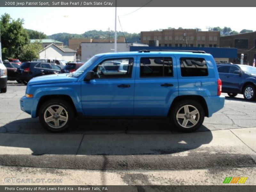
M 134 60 L 108 58 L 93 69 L 95 78 L 81 85 L 85 116 L 133 116 Z

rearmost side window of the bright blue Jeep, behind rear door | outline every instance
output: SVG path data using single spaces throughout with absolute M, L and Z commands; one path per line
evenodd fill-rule
M 208 68 L 204 58 L 181 57 L 181 76 L 208 76 Z

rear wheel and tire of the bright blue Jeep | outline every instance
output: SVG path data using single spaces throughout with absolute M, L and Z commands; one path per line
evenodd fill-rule
M 196 131 L 204 122 L 204 109 L 197 101 L 179 101 L 171 110 L 171 123 L 181 132 Z M 187 110 L 187 112 L 185 110 Z M 180 118 L 178 116 L 180 116 Z

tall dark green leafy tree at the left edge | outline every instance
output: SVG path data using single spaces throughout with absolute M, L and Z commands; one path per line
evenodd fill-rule
M 29 43 L 28 33 L 22 27 L 23 20 L 12 20 L 7 13 L 1 16 L 1 43 L 3 59 L 18 58 L 22 47 Z

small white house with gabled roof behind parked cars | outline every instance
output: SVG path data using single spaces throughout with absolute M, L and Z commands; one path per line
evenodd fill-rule
M 64 59 L 66 61 L 76 61 L 76 51 L 69 48 L 60 48 L 52 43 L 39 52 L 39 57 L 53 60 Z

